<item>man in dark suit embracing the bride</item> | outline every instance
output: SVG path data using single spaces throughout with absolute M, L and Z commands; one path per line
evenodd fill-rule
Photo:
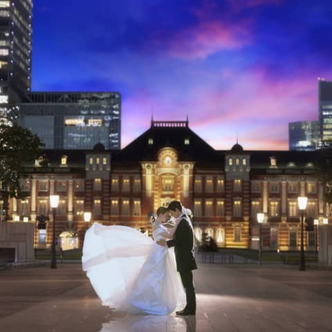
M 195 315 L 196 314 L 196 295 L 194 282 L 192 280 L 192 270 L 197 268 L 194 259 L 194 233 L 192 225 L 182 212 L 182 205 L 179 201 L 169 203 L 167 210 L 178 223 L 176 232 L 172 240 L 165 241 L 161 239 L 157 241 L 160 246 L 174 246 L 177 270 L 180 273 L 185 294 L 187 297 L 187 305 L 182 311 L 176 311 L 176 315 Z

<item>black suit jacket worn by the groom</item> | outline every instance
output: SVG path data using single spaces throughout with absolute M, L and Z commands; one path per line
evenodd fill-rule
M 173 239 L 167 241 L 167 246 L 174 246 L 178 272 L 197 268 L 194 259 L 194 233 L 184 216 L 178 223 Z

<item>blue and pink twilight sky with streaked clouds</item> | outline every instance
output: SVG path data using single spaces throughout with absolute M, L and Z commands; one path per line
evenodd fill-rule
M 122 147 L 186 120 L 215 149 L 288 149 L 332 80 L 331 0 L 35 0 L 33 91 L 118 91 Z

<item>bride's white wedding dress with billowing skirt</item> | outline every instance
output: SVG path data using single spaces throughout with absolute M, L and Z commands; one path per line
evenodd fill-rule
M 162 226 L 154 239 L 163 238 Z M 185 303 L 173 248 L 134 228 L 93 223 L 84 238 L 83 270 L 102 304 L 129 313 L 167 315 Z

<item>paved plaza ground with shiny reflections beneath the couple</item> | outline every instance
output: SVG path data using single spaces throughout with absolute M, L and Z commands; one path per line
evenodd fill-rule
M 332 270 L 200 264 L 196 316 L 101 306 L 80 264 L 0 271 L 0 331 L 332 331 Z

